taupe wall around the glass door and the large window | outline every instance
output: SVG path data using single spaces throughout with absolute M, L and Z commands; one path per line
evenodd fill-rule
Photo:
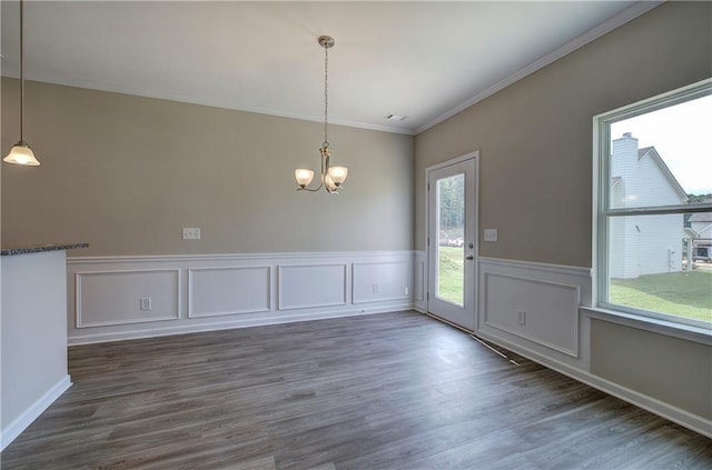
M 425 169 L 479 150 L 479 254 L 591 267 L 592 118 L 711 76 L 712 3 L 668 2 L 418 134 L 416 249 Z M 591 372 L 712 419 L 709 346 L 592 324 Z

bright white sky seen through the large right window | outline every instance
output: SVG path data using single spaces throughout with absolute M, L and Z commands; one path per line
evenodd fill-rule
M 712 193 L 712 96 L 611 124 L 612 139 L 624 132 L 655 147 L 686 193 Z

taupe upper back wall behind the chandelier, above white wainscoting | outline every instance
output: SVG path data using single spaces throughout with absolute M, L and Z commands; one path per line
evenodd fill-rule
M 2 149 L 18 140 L 2 80 Z M 295 190 L 317 122 L 27 82 L 39 168 L 2 166 L 2 243 L 86 241 L 77 256 L 413 249 L 413 141 L 333 126 L 339 196 Z M 182 227 L 202 239 L 181 240 Z M 69 252 L 69 256 L 72 256 Z

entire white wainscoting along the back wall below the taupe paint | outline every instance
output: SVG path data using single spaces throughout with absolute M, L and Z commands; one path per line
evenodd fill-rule
M 413 257 L 368 251 L 69 258 L 68 343 L 408 310 Z M 150 299 L 150 309 L 141 299 Z

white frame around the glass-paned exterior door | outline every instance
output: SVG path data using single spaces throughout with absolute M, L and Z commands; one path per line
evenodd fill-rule
M 475 259 L 473 260 L 474 267 L 473 267 L 473 283 L 474 286 L 472 286 L 473 289 L 473 297 L 474 297 L 474 301 L 473 301 L 473 314 L 474 314 L 474 330 L 469 331 L 458 324 L 452 323 L 441 317 L 436 317 L 433 313 L 431 313 L 431 250 L 432 250 L 432 244 L 431 244 L 431 240 L 429 240 L 429 232 L 431 232 L 431 211 L 429 211 L 429 191 L 427 189 L 427 186 L 429 183 L 429 173 L 431 171 L 434 170 L 439 170 L 453 164 L 457 164 L 457 163 L 462 163 L 464 161 L 467 160 L 473 160 L 474 164 L 475 164 L 475 177 L 474 177 L 474 181 L 473 184 L 475 186 L 474 188 L 474 197 L 475 200 L 473 201 L 473 207 L 475 210 L 475 213 L 473 214 L 474 217 L 474 249 L 473 249 L 473 254 L 475 257 Z M 459 156 L 456 157 L 454 159 L 447 160 L 447 161 L 443 161 L 441 163 L 436 163 L 436 164 L 432 164 L 429 167 L 427 167 L 425 169 L 425 266 L 424 266 L 424 272 L 423 272 L 423 278 L 424 278 L 424 283 L 425 283 L 425 312 L 428 316 L 433 316 L 435 318 L 437 318 L 441 321 L 445 321 L 448 324 L 452 324 L 455 328 L 458 328 L 463 331 L 467 331 L 467 332 L 472 332 L 472 333 L 476 333 L 477 330 L 479 329 L 479 314 L 478 314 L 478 304 L 479 304 L 479 150 L 475 150 L 472 151 L 469 153 L 465 153 L 464 156 Z

